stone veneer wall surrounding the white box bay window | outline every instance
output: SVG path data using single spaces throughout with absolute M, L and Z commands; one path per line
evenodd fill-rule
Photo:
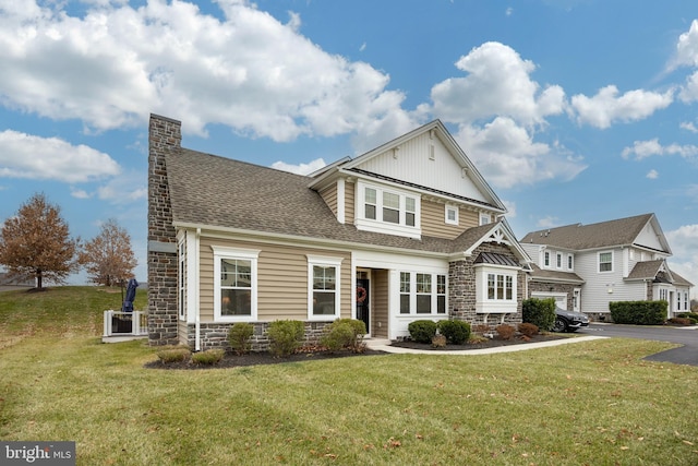
M 484 324 L 484 313 L 476 312 L 476 268 L 474 260 L 481 252 L 494 252 L 508 255 L 515 261 L 516 258 L 505 244 L 485 242 L 480 244 L 469 258 L 453 261 L 448 264 L 448 303 L 450 306 L 450 316 L 454 320 L 469 322 L 472 326 Z M 516 313 L 505 315 L 504 322 L 510 325 L 521 323 L 521 301 L 524 300 L 526 274 L 519 271 L 517 274 L 517 307 Z M 500 324 L 501 314 L 489 314 L 488 325 L 493 328 Z

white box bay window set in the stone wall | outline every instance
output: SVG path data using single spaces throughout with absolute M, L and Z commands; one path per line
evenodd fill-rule
M 489 264 L 476 267 L 476 312 L 516 312 L 518 271 Z

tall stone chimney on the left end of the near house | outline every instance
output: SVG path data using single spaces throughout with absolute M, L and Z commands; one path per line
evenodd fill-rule
M 165 155 L 179 151 L 181 122 L 151 115 L 148 128 L 148 343 L 174 345 L 177 334 L 177 232 Z

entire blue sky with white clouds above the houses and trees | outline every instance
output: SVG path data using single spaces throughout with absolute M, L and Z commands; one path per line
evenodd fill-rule
M 155 112 L 294 171 L 438 118 L 519 238 L 653 212 L 698 285 L 694 1 L 0 0 L 0 220 L 115 218 L 141 280 Z

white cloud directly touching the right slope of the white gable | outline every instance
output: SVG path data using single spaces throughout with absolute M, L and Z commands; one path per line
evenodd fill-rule
M 533 142 L 510 118 L 495 118 L 484 127 L 461 126 L 456 139 L 485 179 L 498 188 L 570 180 L 585 168 L 581 157 L 565 147 Z

